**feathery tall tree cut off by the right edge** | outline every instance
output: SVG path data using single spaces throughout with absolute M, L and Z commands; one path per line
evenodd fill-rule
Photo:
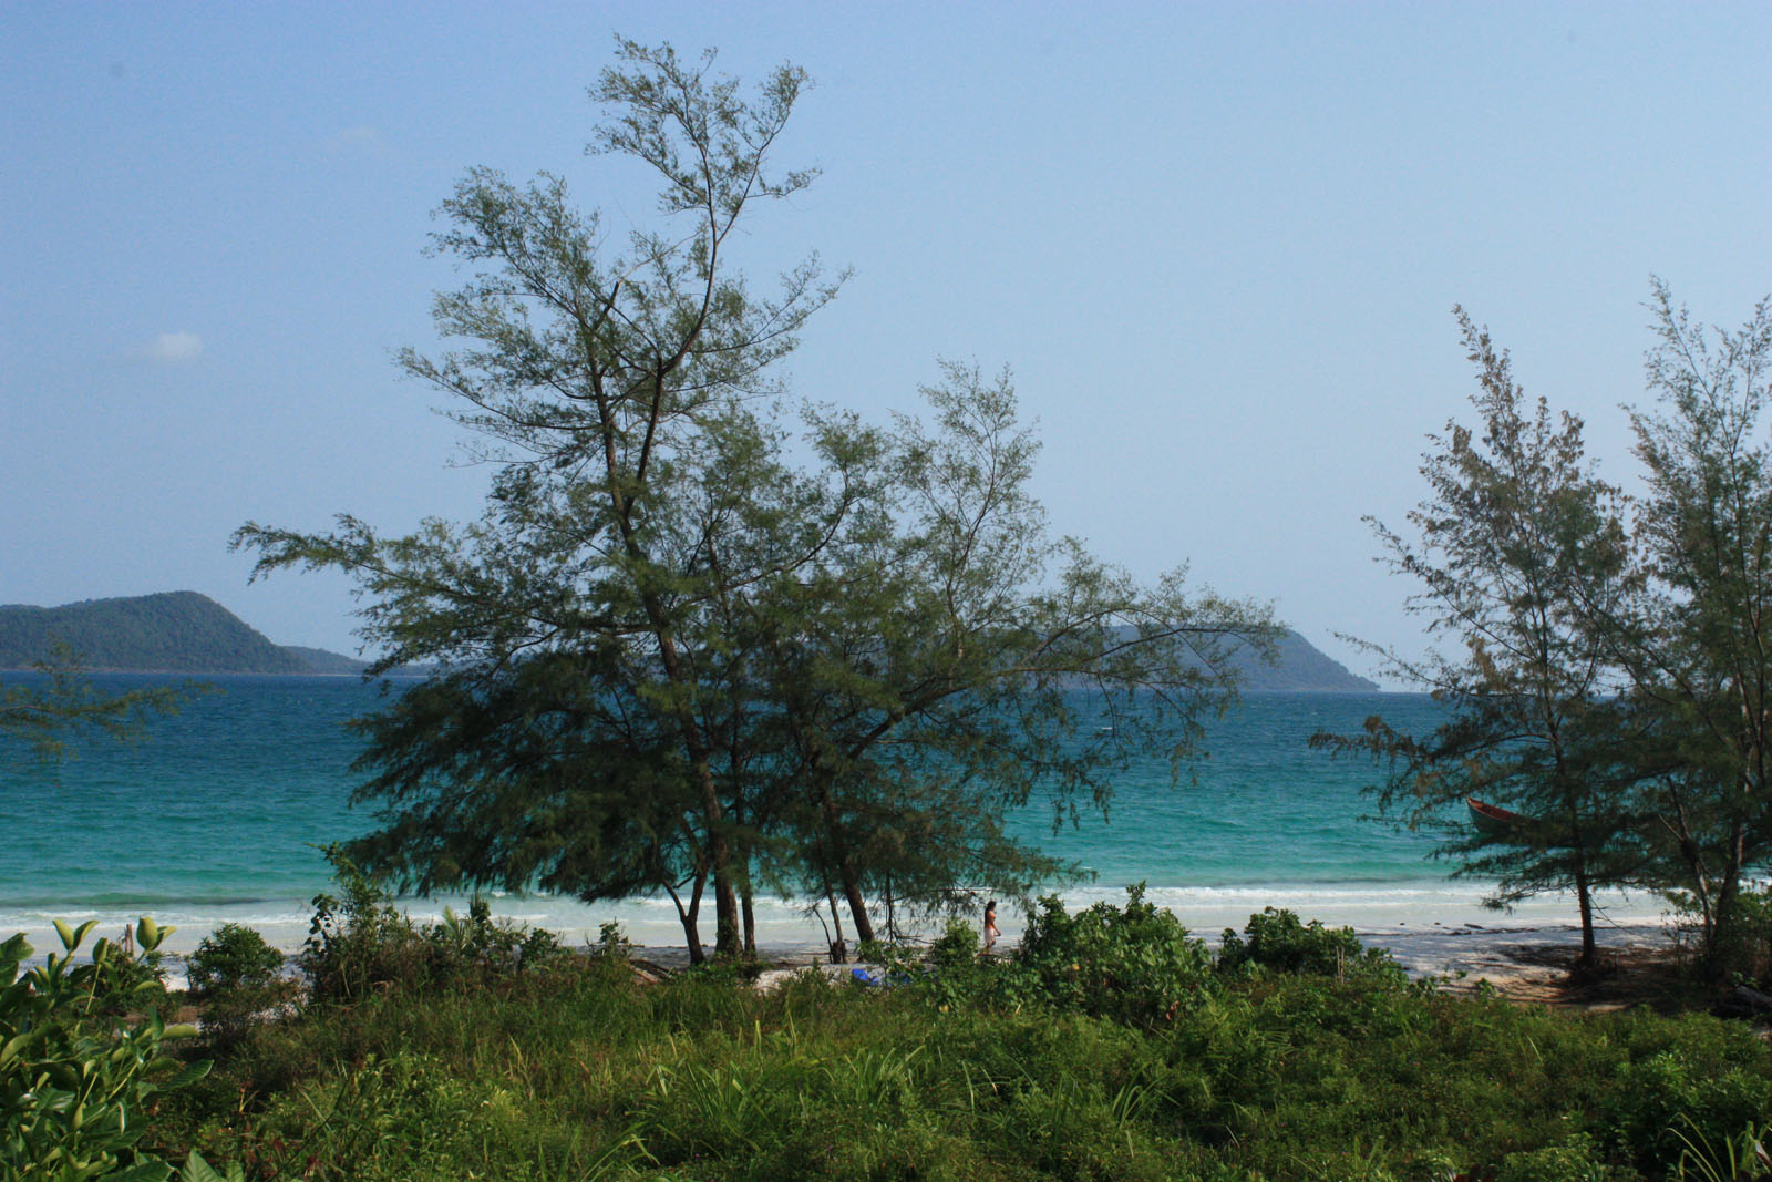
M 1613 634 L 1660 746 L 1666 883 L 1690 891 L 1722 973 L 1742 875 L 1772 856 L 1772 299 L 1735 331 L 1694 324 L 1660 280 L 1650 308 L 1657 402 L 1632 415 L 1646 585 Z

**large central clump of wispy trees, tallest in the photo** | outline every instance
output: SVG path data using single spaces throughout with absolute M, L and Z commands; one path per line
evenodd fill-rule
M 1051 544 L 1006 381 L 950 381 L 930 429 L 813 411 L 790 463 L 767 367 L 835 289 L 808 261 L 757 298 L 727 245 L 812 177 L 769 165 L 804 76 L 744 103 L 711 57 L 620 62 L 595 147 L 663 177 L 668 229 L 608 259 L 560 181 L 484 170 L 443 206 L 439 250 L 486 268 L 436 301 L 470 346 L 400 363 L 501 461 L 482 517 L 236 535 L 257 572 L 353 572 L 385 665 L 447 668 L 363 719 L 383 828 L 353 852 L 424 890 L 668 893 L 696 959 L 703 891 L 735 953 L 758 888 L 840 893 L 867 936 L 884 875 L 1024 881 L 1003 810 L 1047 773 L 1106 799 L 1102 753 L 1189 737 L 1224 638 L 1265 618 Z M 1088 679 L 1145 725 L 1058 753 Z

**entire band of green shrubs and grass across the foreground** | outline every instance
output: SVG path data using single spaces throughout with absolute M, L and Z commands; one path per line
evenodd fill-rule
M 964 923 L 868 955 L 867 984 L 758 987 L 746 962 L 654 982 L 613 929 L 571 952 L 484 907 L 416 925 L 346 872 L 301 982 L 229 929 L 190 996 L 115 946 L 7 991 L 0 1177 L 1768 1173 L 1772 1053 L 1740 1021 L 1453 996 L 1272 909 L 1214 952 L 1138 888 L 1040 900 L 1012 955 Z M 191 1005 L 200 1033 L 165 1024 Z M 46 1090 L 64 1079 L 94 1086 Z

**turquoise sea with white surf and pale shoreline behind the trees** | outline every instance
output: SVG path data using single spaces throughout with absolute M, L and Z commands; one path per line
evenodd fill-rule
M 32 675 L 7 675 L 28 682 Z M 165 684 L 152 675 L 96 675 L 117 693 Z M 136 743 L 83 737 L 55 762 L 0 739 L 0 937 L 23 930 L 39 948 L 55 920 L 97 920 L 115 934 L 138 914 L 177 927 L 168 950 L 188 952 L 216 925 L 245 923 L 294 950 L 308 934 L 312 900 L 330 888 L 323 847 L 374 826 L 353 808 L 361 739 L 351 718 L 376 711 L 400 684 L 356 677 L 206 679 L 211 693 L 149 723 Z M 1054 829 L 1049 805 L 1012 819 L 1014 833 L 1083 863 L 1086 883 L 1054 884 L 1067 906 L 1125 897 L 1170 907 L 1196 932 L 1242 927 L 1262 907 L 1352 925 L 1366 934 L 1423 929 L 1566 930 L 1566 897 L 1513 913 L 1483 907 L 1488 883 L 1453 879 L 1432 858 L 1435 838 L 1370 817 L 1364 789 L 1379 771 L 1310 750 L 1318 730 L 1356 734 L 1380 714 L 1398 730 L 1426 732 L 1441 718 L 1423 695 L 1246 695 L 1209 723 L 1205 755 L 1171 774 L 1166 758 L 1116 776 L 1106 815 L 1084 810 Z M 1453 817 L 1457 820 L 1457 817 Z M 491 893 L 496 916 L 542 925 L 572 943 L 615 920 L 641 945 L 682 943 L 668 898 L 583 904 L 551 895 Z M 1607 895 L 1607 921 L 1659 921 L 1646 895 Z M 415 920 L 461 897 L 400 898 Z M 799 902 L 758 900 L 766 948 L 822 948 L 828 934 Z M 1008 939 L 1019 913 L 999 907 Z M 712 941 L 712 907 L 702 937 Z

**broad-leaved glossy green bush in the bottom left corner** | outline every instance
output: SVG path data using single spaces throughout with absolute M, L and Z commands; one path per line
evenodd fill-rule
M 62 952 L 23 975 L 32 946 L 21 934 L 0 945 L 0 1180 L 167 1178 L 165 1159 L 138 1148 L 144 1116 L 209 1070 L 167 1054 L 165 1044 L 193 1028 L 129 1014 L 156 982 L 117 945 L 99 939 L 76 964 L 92 923 L 57 921 Z M 147 916 L 135 929 L 149 955 L 170 932 Z

